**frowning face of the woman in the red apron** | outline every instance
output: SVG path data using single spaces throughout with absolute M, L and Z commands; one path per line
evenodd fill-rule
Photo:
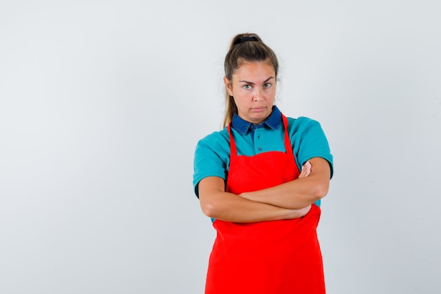
M 224 82 L 235 99 L 237 114 L 245 121 L 259 124 L 273 111 L 276 81 L 271 63 L 244 62 L 232 80 L 224 78 Z

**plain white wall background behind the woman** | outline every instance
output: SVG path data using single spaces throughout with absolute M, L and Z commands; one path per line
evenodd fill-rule
M 193 152 L 240 32 L 328 136 L 328 293 L 441 292 L 440 1 L 1 0 L 0 293 L 203 293 Z

